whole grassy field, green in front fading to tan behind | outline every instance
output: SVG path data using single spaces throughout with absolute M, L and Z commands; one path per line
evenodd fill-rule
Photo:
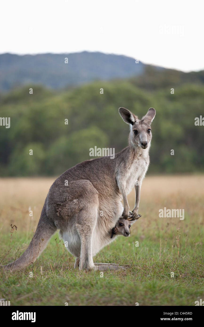
M 53 181 L 0 179 L 2 263 L 28 247 Z M 129 265 L 125 271 L 106 271 L 101 277 L 99 271 L 74 270 L 74 258 L 56 233 L 33 265 L 20 272 L 0 272 L 0 298 L 10 305 L 195 305 L 204 299 L 203 185 L 203 175 L 145 178 L 142 217 L 131 227 L 130 237 L 118 237 L 94 257 L 95 262 Z M 134 192 L 128 199 L 132 210 Z M 184 220 L 159 218 L 164 207 L 184 209 Z M 11 224 L 17 230 L 10 232 Z

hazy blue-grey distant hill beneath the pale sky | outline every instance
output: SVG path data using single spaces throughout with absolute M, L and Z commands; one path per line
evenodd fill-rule
M 5 53 L 0 55 L 0 91 L 33 83 L 61 89 L 94 80 L 128 78 L 142 75 L 147 66 L 135 63 L 133 58 L 100 52 L 24 56 Z

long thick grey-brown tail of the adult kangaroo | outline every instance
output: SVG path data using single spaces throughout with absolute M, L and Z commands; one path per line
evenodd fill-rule
M 44 205 L 37 229 L 27 250 L 20 256 L 20 258 L 0 267 L 3 267 L 5 270 L 15 271 L 35 262 L 37 257 L 46 248 L 50 237 L 54 234 L 54 232 L 56 232 L 56 230 L 56 226 L 46 215 L 46 209 Z

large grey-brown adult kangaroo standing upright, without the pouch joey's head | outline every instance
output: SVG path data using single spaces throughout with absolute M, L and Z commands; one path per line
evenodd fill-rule
M 112 241 L 107 233 L 110 235 L 119 217 L 132 221 L 140 217 L 140 187 L 149 165 L 150 125 L 156 111 L 150 108 L 141 120 L 125 108 L 119 108 L 119 113 L 130 125 L 129 146 L 117 153 L 115 159 L 87 160 L 58 177 L 49 189 L 28 249 L 20 258 L 4 265 L 5 269 L 14 271 L 33 263 L 57 229 L 76 257 L 75 267 L 98 269 L 93 255 Z M 134 186 L 135 207 L 129 214 L 127 194 Z M 100 267 L 103 269 L 105 265 Z

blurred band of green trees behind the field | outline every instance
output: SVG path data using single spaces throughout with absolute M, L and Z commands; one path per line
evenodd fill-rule
M 163 71 L 158 72 L 154 91 L 148 90 L 147 82 L 146 87 L 142 85 L 142 77 L 140 83 L 136 78 L 95 81 L 58 93 L 34 86 L 30 95 L 28 86 L 1 96 L 0 116 L 10 117 L 9 129 L 0 126 L 1 175 L 59 175 L 91 159 L 90 147 L 120 151 L 127 146 L 129 132 L 118 114 L 121 106 L 139 118 L 150 107 L 156 109 L 150 172 L 203 171 L 204 127 L 194 124 L 195 117 L 204 116 L 202 76 L 194 84 L 180 78 L 181 85 L 175 86 L 173 72 L 167 71 L 167 77 L 170 74 L 172 78 L 169 84 L 163 82 Z M 148 74 L 153 73 L 147 72 L 146 78 Z M 150 81 L 154 84 L 153 79 Z M 170 93 L 172 87 L 174 94 Z M 33 150 L 32 156 L 29 149 Z M 171 149 L 174 156 L 170 155 Z

